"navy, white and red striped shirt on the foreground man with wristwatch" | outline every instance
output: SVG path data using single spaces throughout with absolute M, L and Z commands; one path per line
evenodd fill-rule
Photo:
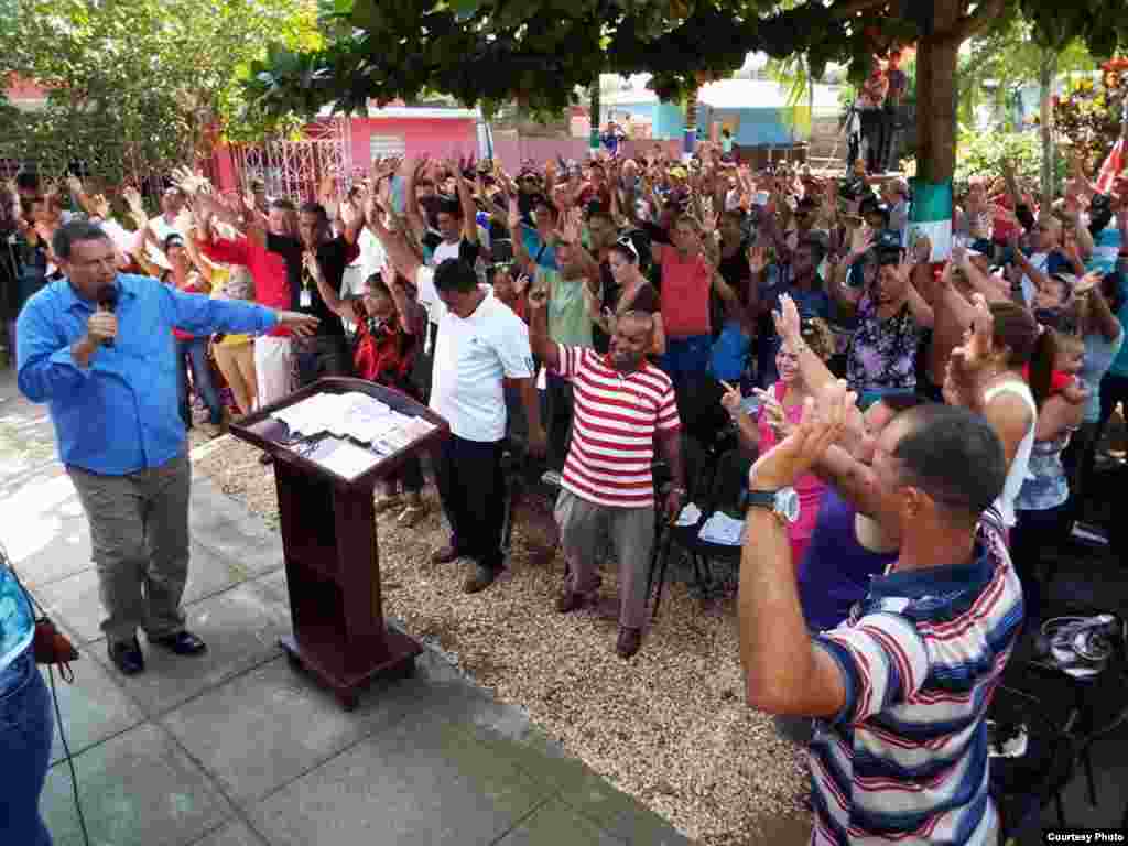
M 816 722 L 812 844 L 995 843 L 985 715 L 1022 615 L 1002 534 L 984 522 L 971 563 L 874 578 L 817 640 L 846 705 Z

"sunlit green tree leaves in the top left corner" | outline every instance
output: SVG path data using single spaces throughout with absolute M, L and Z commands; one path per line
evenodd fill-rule
M 25 155 L 104 152 L 106 176 L 206 155 L 217 132 L 261 138 L 285 114 L 248 108 L 243 82 L 276 92 L 279 62 L 312 87 L 305 56 L 325 46 L 314 0 L 6 1 L 0 70 L 53 86 L 47 111 L 25 118 Z M 271 41 L 285 50 L 268 55 Z

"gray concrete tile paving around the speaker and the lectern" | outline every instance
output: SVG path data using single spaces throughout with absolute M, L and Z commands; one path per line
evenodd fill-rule
M 687 844 L 535 730 L 525 714 L 426 651 L 413 678 L 378 682 L 346 713 L 291 668 L 276 532 L 206 479 L 192 499 L 190 626 L 200 659 L 146 649 L 112 668 L 89 532 L 54 460 L 44 408 L 0 373 L 0 539 L 79 644 L 58 681 L 90 841 L 98 846 Z M 81 844 L 58 737 L 43 812 Z

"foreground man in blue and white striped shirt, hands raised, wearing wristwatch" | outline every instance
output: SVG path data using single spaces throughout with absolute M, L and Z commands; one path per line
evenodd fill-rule
M 831 386 L 750 474 L 739 598 L 748 700 L 817 717 L 812 844 L 994 844 L 985 716 L 1022 623 L 1002 525 L 988 518 L 1003 448 L 966 408 L 923 405 L 893 420 L 872 473 L 853 483 L 898 530 L 898 559 L 845 623 L 812 638 L 786 531 L 763 494 L 826 455 L 853 400 Z

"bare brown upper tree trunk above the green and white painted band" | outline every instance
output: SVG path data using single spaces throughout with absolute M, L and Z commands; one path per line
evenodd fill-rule
M 933 0 L 932 34 L 917 49 L 917 178 L 946 183 L 955 174 L 955 68 L 960 44 L 949 33 L 961 0 Z

